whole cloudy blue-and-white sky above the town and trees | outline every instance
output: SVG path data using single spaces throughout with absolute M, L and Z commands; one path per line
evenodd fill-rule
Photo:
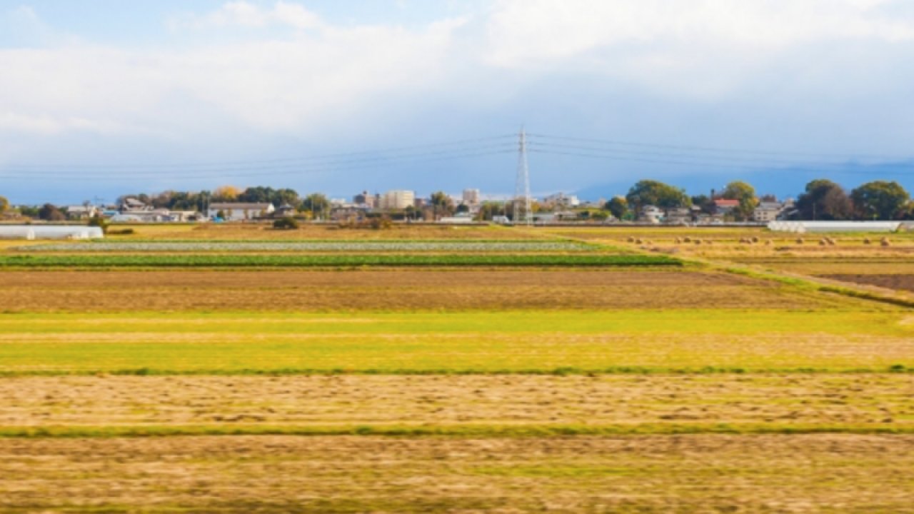
M 0 0 L 0 195 L 914 189 L 909 0 Z

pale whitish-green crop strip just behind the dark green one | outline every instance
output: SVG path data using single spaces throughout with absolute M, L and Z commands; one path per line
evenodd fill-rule
M 106 242 L 42 244 L 21 252 L 582 252 L 595 247 L 574 242 L 466 241 L 275 241 L 275 242 Z

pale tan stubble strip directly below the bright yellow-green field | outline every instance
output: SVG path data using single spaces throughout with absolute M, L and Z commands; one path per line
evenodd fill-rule
M 21 377 L 0 427 L 801 423 L 914 427 L 914 375 Z

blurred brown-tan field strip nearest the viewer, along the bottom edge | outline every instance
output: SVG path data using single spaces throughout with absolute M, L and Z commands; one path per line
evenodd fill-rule
M 0 440 L 0 509 L 911 512 L 914 436 Z

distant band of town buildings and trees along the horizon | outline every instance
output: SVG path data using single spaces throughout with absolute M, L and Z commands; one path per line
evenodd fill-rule
M 0 191 L 2 193 L 2 191 Z M 529 206 L 529 207 L 527 207 Z M 128 194 L 113 203 L 10 205 L 0 197 L 2 220 L 9 222 L 111 223 L 244 222 L 314 220 L 359 223 L 645 223 L 715 225 L 763 224 L 775 220 L 914 220 L 914 204 L 897 182 L 873 181 L 851 191 L 813 180 L 797 198 L 758 194 L 742 181 L 690 196 L 685 189 L 655 180 L 634 184 L 625 195 L 581 200 L 555 193 L 543 198 L 494 199 L 476 188 L 459 195 L 442 191 L 420 197 L 415 191 L 357 192 L 351 198 L 322 193 L 300 196 L 289 188 L 218 187 L 213 191 Z

